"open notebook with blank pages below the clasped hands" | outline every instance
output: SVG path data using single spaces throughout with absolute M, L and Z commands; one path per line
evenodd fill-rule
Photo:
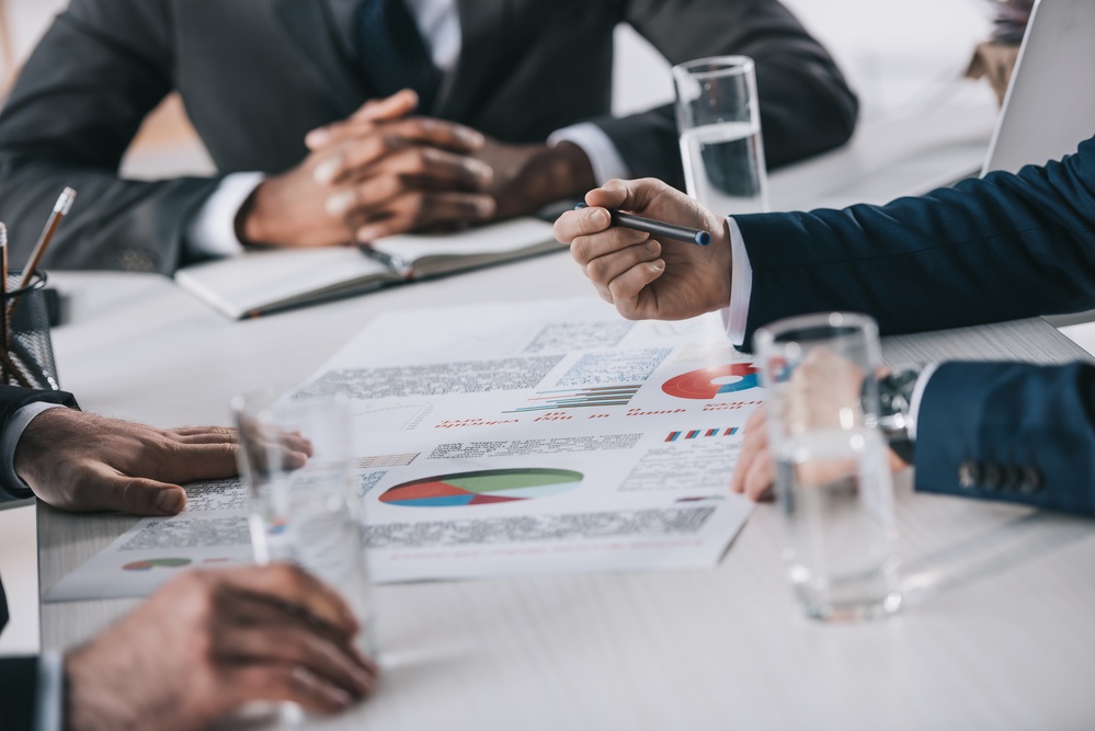
M 390 236 L 368 251 L 253 250 L 181 269 L 175 283 L 239 320 L 560 248 L 550 224 L 517 218 L 457 233 Z

